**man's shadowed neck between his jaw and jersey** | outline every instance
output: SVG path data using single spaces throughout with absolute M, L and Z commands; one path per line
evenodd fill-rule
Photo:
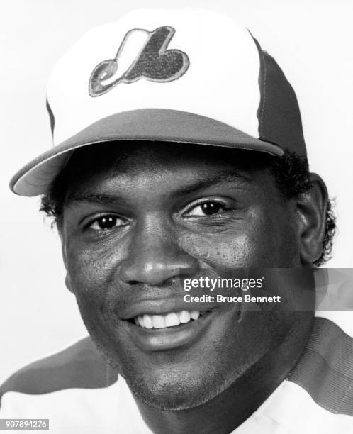
M 181 411 L 152 408 L 136 400 L 150 430 L 155 434 L 229 434 L 257 410 L 291 371 L 313 325 L 312 314 L 288 333 L 276 350 L 264 355 L 240 378 L 210 401 Z

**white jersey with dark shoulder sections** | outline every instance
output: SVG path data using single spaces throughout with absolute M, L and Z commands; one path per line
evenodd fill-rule
M 352 336 L 330 319 L 315 318 L 296 366 L 233 433 L 353 433 Z M 90 338 L 21 369 L 1 393 L 0 418 L 46 418 L 52 434 L 152 433 L 125 380 Z

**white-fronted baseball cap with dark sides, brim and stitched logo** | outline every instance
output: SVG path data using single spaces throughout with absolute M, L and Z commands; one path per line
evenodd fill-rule
M 296 95 L 274 58 L 206 10 L 139 9 L 90 30 L 53 69 L 47 110 L 53 146 L 13 176 L 16 194 L 45 194 L 74 150 L 95 143 L 306 155 Z

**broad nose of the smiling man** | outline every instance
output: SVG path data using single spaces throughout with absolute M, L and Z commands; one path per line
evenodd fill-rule
M 135 232 L 119 276 L 128 284 L 162 286 L 173 277 L 192 276 L 197 269 L 198 260 L 182 250 L 178 241 L 159 226 Z

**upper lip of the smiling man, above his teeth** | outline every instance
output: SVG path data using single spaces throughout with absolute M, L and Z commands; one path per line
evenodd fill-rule
M 186 303 L 181 298 L 147 299 L 127 306 L 119 316 L 127 320 L 144 314 L 167 315 L 179 311 L 211 311 L 214 307 L 215 303 Z

